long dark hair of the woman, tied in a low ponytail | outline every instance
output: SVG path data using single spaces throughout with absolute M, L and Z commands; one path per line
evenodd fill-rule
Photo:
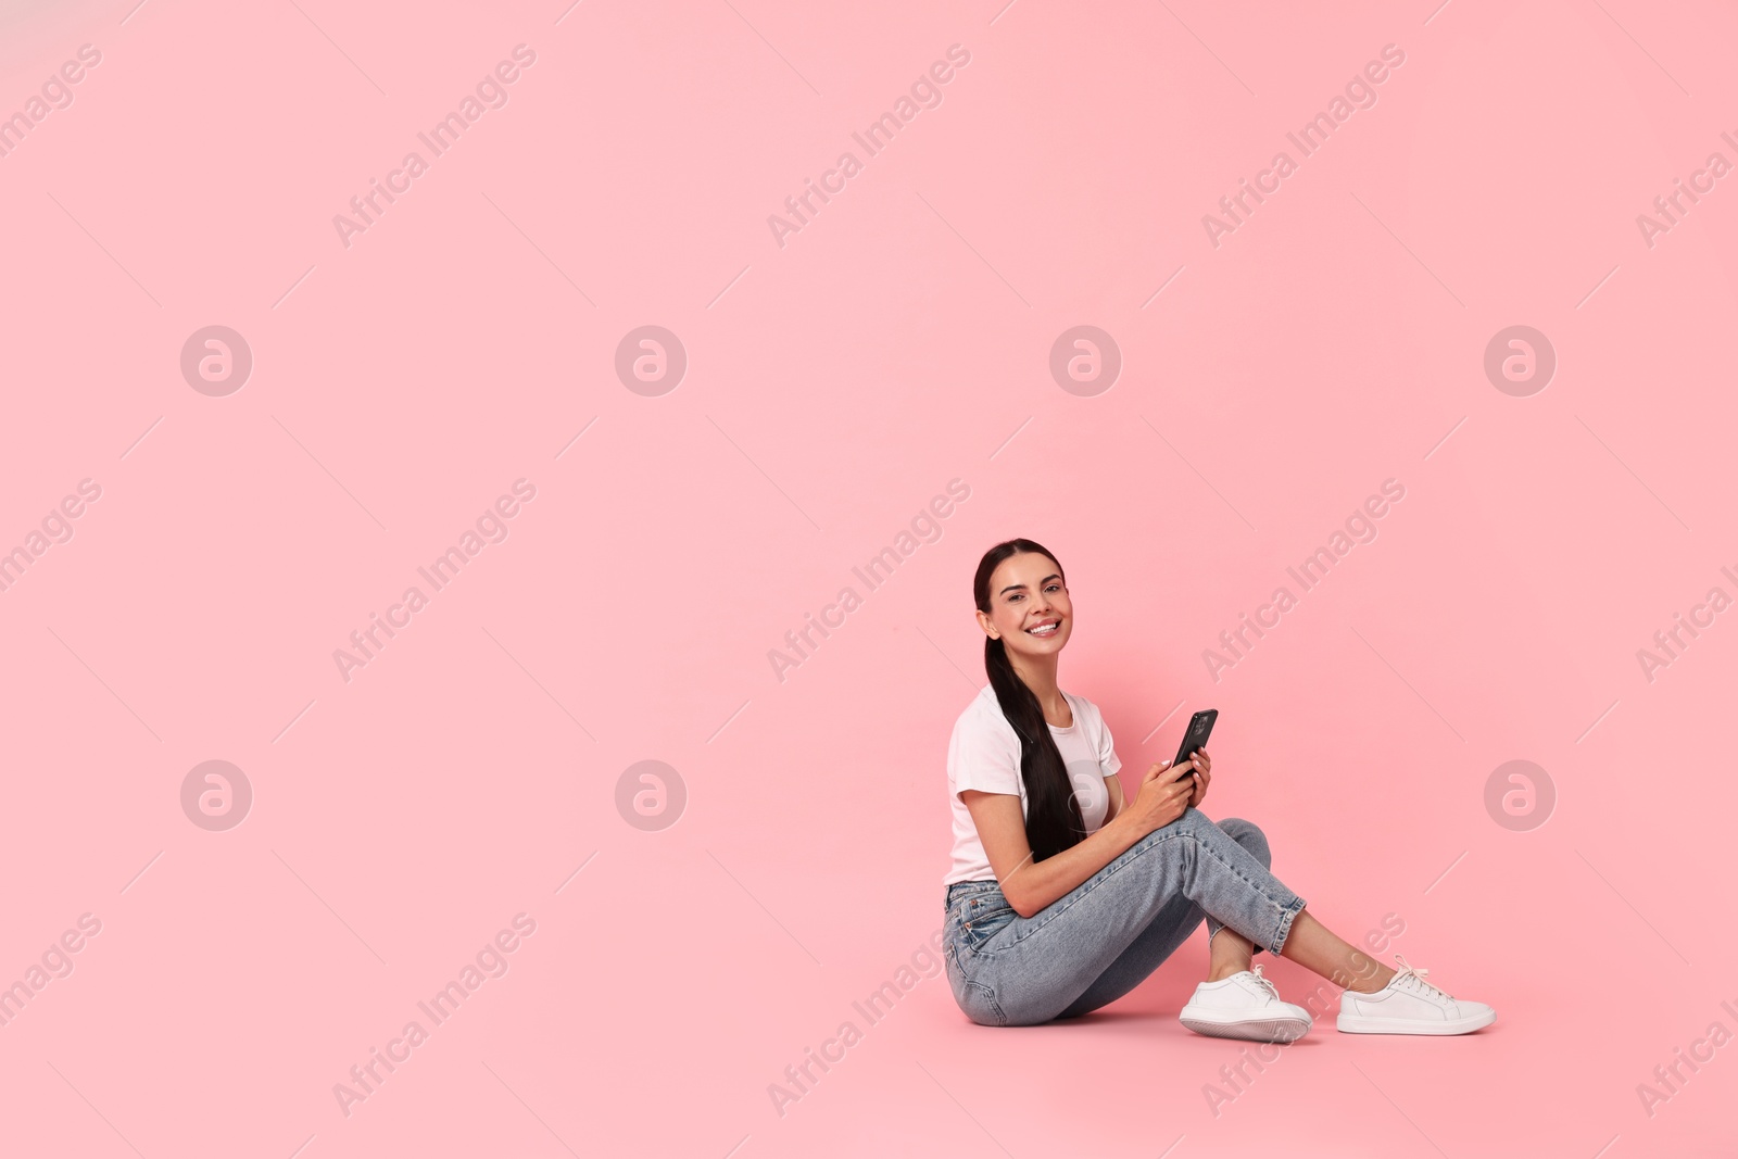
M 1050 558 L 1057 573 L 1067 582 L 1062 563 L 1029 539 L 1010 539 L 984 553 L 977 575 L 972 579 L 972 599 L 978 612 L 989 613 L 989 577 L 1008 556 L 1032 553 Z M 1041 862 L 1086 839 L 1086 822 L 1074 799 L 1062 749 L 1045 723 L 1045 707 L 1008 662 L 1008 645 L 999 638 L 984 638 L 984 671 L 1001 704 L 1001 714 L 1020 735 L 1020 778 L 1025 782 L 1025 843 L 1032 846 L 1032 860 Z

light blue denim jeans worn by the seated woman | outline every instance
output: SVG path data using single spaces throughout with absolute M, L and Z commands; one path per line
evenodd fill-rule
M 1255 824 L 1185 808 L 1031 917 L 996 881 L 956 881 L 944 924 L 954 1001 L 987 1027 L 1085 1015 L 1140 985 L 1203 917 L 1208 937 L 1231 926 L 1279 954 L 1304 898 L 1270 864 Z

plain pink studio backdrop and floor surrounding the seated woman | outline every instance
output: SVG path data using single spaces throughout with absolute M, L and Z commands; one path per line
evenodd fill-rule
M 1651 1116 L 1637 1084 L 1738 1032 L 1738 613 L 1653 681 L 1635 652 L 1738 594 L 1738 177 L 1651 247 L 1635 217 L 1738 162 L 1738 17 L 1316 7 L 0 5 L 0 113 L 101 52 L 0 158 L 0 549 L 101 487 L 0 593 L 0 982 L 101 921 L 0 1027 L 0 1149 L 1735 1154 L 1738 1048 Z M 332 217 L 520 43 L 507 104 L 346 248 Z M 1211 245 L 1279 149 L 1298 170 Z M 179 368 L 209 325 L 252 349 L 228 396 Z M 614 370 L 641 325 L 688 356 L 659 396 Z M 1091 396 L 1048 370 L 1076 325 L 1123 358 Z M 1512 325 L 1557 354 L 1526 398 L 1483 368 Z M 507 539 L 346 681 L 334 650 L 521 478 Z M 869 593 L 852 566 L 956 478 Z M 1215 683 L 1201 652 L 1389 478 L 1375 542 Z M 1218 707 L 1206 811 L 1343 935 L 1403 919 L 1495 1027 L 1330 1015 L 1215 1114 L 1239 1046 L 1175 1020 L 1204 933 L 1074 1025 L 975 1027 L 933 971 L 855 1013 L 942 917 L 968 587 L 1008 535 L 1062 558 L 1062 683 L 1124 784 Z M 210 759 L 254 792 L 228 831 L 181 805 Z M 687 792 L 660 831 L 617 808 L 648 759 Z M 1486 810 L 1512 759 L 1547 824 Z M 346 1116 L 334 1084 L 514 914 L 507 973 Z

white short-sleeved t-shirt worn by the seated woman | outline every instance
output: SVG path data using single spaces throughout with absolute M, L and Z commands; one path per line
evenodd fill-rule
M 1069 692 L 1062 697 L 1074 712 L 1074 723 L 1067 728 L 1050 725 L 1050 735 L 1062 751 L 1062 763 L 1074 784 L 1074 799 L 1079 801 L 1086 832 L 1093 834 L 1104 825 L 1104 815 L 1111 808 L 1111 791 L 1104 778 L 1116 775 L 1123 761 L 1116 756 L 1111 728 L 1104 723 L 1098 705 Z M 1013 732 L 991 685 L 984 685 L 977 699 L 959 714 L 954 735 L 947 742 L 947 798 L 954 815 L 954 853 L 942 879 L 944 886 L 956 881 L 996 879 L 984 843 L 978 839 L 977 824 L 972 820 L 972 810 L 959 799 L 961 789 L 1018 794 L 1020 817 L 1025 817 L 1020 733 Z

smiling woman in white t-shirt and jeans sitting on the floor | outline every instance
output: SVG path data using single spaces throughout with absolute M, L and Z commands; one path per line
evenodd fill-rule
M 1050 551 L 1029 539 L 996 544 L 972 598 L 989 686 L 947 745 L 954 851 L 944 878 L 944 963 L 972 1022 L 1034 1025 L 1098 1010 L 1203 921 L 1208 978 L 1178 1015 L 1196 1034 L 1291 1043 L 1310 1029 L 1310 1011 L 1281 1001 L 1251 964 L 1264 949 L 1347 989 L 1343 1032 L 1467 1034 L 1496 1020 L 1316 921 L 1269 872 L 1255 824 L 1199 811 L 1213 782 L 1206 749 L 1177 768 L 1154 765 L 1124 798 L 1098 707 L 1057 685 L 1076 606 Z

